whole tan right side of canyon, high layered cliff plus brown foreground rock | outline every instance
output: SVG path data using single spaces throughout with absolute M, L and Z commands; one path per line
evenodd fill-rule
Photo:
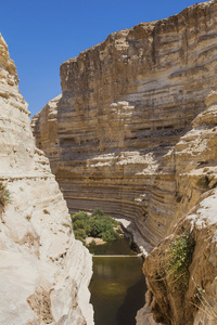
M 62 95 L 33 120 L 71 211 L 122 218 L 144 253 L 164 240 L 144 265 L 150 307 L 138 324 L 153 324 L 151 311 L 164 324 L 215 322 L 193 295 L 200 286 L 216 309 L 216 16 L 209 1 L 108 36 L 62 64 Z M 165 247 L 188 231 L 195 247 L 179 295 L 155 280 Z

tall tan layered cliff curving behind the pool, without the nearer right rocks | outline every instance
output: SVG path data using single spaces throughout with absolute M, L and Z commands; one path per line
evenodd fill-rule
M 146 250 L 192 205 L 177 207 L 186 157 L 175 146 L 217 81 L 216 15 L 209 1 L 110 35 L 62 64 L 62 95 L 33 121 L 71 212 L 124 217 Z

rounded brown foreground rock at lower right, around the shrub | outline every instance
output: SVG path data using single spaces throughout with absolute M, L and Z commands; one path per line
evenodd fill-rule
M 215 325 L 217 322 L 216 204 L 217 191 L 213 190 L 145 260 L 146 301 L 155 321 L 161 324 Z M 171 272 L 165 273 L 170 262 L 167 250 L 184 233 L 191 234 L 194 250 L 189 277 L 180 274 L 178 282 Z M 180 288 L 182 278 L 187 282 L 186 290 Z M 146 307 L 139 314 L 142 322 L 138 324 L 146 324 Z

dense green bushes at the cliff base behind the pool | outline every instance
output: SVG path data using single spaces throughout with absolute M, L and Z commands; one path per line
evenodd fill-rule
M 103 238 L 105 242 L 114 242 L 118 238 L 118 233 L 115 231 L 118 222 L 101 209 L 97 209 L 91 214 L 77 212 L 72 216 L 72 221 L 75 237 L 82 243 L 87 237 Z

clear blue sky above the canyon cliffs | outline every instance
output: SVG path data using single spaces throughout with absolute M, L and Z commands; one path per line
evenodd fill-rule
M 139 23 L 166 18 L 195 0 L 5 0 L 0 32 L 31 114 L 61 93 L 60 65 Z

